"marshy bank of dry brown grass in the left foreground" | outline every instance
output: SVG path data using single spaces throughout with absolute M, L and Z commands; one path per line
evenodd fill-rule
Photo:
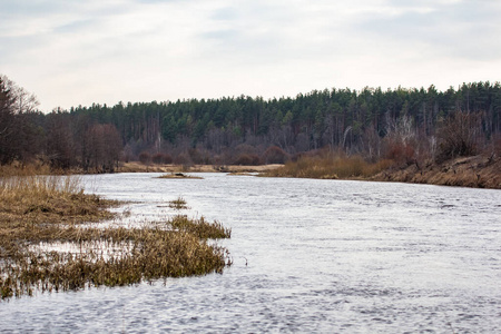
M 0 178 L 1 298 L 222 272 L 229 237 L 219 223 L 178 216 L 144 228 L 110 219 L 115 202 L 84 194 L 76 177 Z M 180 222 L 180 223 L 179 223 Z

